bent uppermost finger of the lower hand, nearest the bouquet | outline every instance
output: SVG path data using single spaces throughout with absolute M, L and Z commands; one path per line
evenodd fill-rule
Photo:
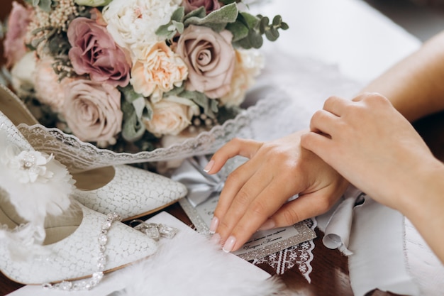
M 252 155 L 255 155 L 260 146 L 262 146 L 261 142 L 233 138 L 213 154 L 204 170 L 209 174 L 214 174 L 221 170 L 228 159 L 236 155 L 252 158 Z

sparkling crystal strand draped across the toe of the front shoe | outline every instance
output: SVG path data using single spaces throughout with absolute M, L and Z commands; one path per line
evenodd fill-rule
M 43 287 L 45 289 L 55 289 L 63 291 L 80 291 L 80 290 L 91 290 L 96 285 L 99 285 L 101 279 L 104 277 L 104 270 L 106 265 L 106 243 L 108 242 L 108 231 L 111 225 L 115 221 L 121 221 L 121 216 L 116 213 L 110 213 L 106 215 L 106 221 L 101 226 L 101 234 L 97 241 L 99 242 L 99 256 L 97 256 L 97 271 L 91 275 L 88 280 L 70 281 L 62 280 L 60 283 L 50 284 L 45 283 Z

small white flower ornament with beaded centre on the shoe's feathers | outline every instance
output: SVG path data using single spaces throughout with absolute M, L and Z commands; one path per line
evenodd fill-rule
M 45 183 L 54 175 L 47 167 L 53 158 L 52 155 L 44 155 L 38 151 L 21 151 L 10 158 L 8 167 L 21 183 Z

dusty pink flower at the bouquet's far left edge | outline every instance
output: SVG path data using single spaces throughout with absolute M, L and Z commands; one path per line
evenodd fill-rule
M 8 31 L 4 40 L 4 57 L 6 67 L 14 65 L 26 53 L 25 37 L 31 21 L 32 9 L 28 9 L 16 1 L 12 3 L 8 19 Z

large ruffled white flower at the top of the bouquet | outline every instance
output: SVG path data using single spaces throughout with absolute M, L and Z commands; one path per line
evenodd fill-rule
M 182 0 L 113 0 L 104 7 L 103 16 L 113 39 L 132 50 L 140 44 L 153 45 L 163 38 L 155 31 L 170 22 Z

